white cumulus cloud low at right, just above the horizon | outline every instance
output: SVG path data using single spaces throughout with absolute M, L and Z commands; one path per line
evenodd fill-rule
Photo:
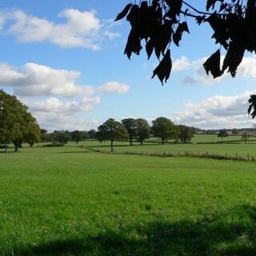
M 248 98 L 256 91 L 236 96 L 216 95 L 202 102 L 188 103 L 186 110 L 174 114 L 174 121 L 200 128 L 248 127 L 254 123 L 246 113 Z

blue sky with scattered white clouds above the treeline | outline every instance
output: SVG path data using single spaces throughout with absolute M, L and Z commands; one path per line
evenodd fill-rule
M 253 54 L 246 54 L 236 78 L 207 76 L 202 63 L 219 46 L 209 24 L 187 18 L 190 34 L 171 46 L 173 69 L 162 86 L 151 79 L 157 58 L 123 54 L 130 24 L 114 18 L 128 2 L 1 0 L 0 89 L 16 95 L 50 131 L 160 116 L 206 129 L 253 126 L 247 115 L 256 93 Z

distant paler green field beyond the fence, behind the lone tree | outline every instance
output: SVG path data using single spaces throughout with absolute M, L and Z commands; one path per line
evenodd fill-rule
M 71 143 L 70 145 L 75 145 Z M 110 151 L 110 142 L 86 141 L 78 144 L 80 146 L 90 147 L 94 150 L 103 152 Z M 197 134 L 190 144 L 174 144 L 167 143 L 162 145 L 157 138 L 151 138 L 150 142 L 144 143 L 140 146 L 138 142 L 134 142 L 134 146 L 130 146 L 128 142 L 114 142 L 114 151 L 117 153 L 147 153 L 147 154 L 186 154 L 186 152 L 193 154 L 218 154 L 222 156 L 230 156 L 247 158 L 248 154 L 256 159 L 256 141 L 251 138 L 247 144 L 241 140 L 239 136 L 230 136 L 225 138 L 222 142 L 217 135 Z

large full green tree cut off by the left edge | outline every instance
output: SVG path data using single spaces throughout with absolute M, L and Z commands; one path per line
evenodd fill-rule
M 39 126 L 27 106 L 3 90 L 0 90 L 0 102 L 0 140 L 5 145 L 6 152 L 8 142 L 13 142 L 15 151 L 18 151 L 24 140 L 37 141 Z

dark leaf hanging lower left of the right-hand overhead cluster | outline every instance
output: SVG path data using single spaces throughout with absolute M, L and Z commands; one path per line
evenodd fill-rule
M 206 74 L 209 74 L 210 72 L 214 78 L 220 77 L 222 75 L 222 71 L 220 69 L 220 63 L 221 63 L 221 52 L 220 50 L 217 50 L 203 64 L 203 67 L 206 70 Z

